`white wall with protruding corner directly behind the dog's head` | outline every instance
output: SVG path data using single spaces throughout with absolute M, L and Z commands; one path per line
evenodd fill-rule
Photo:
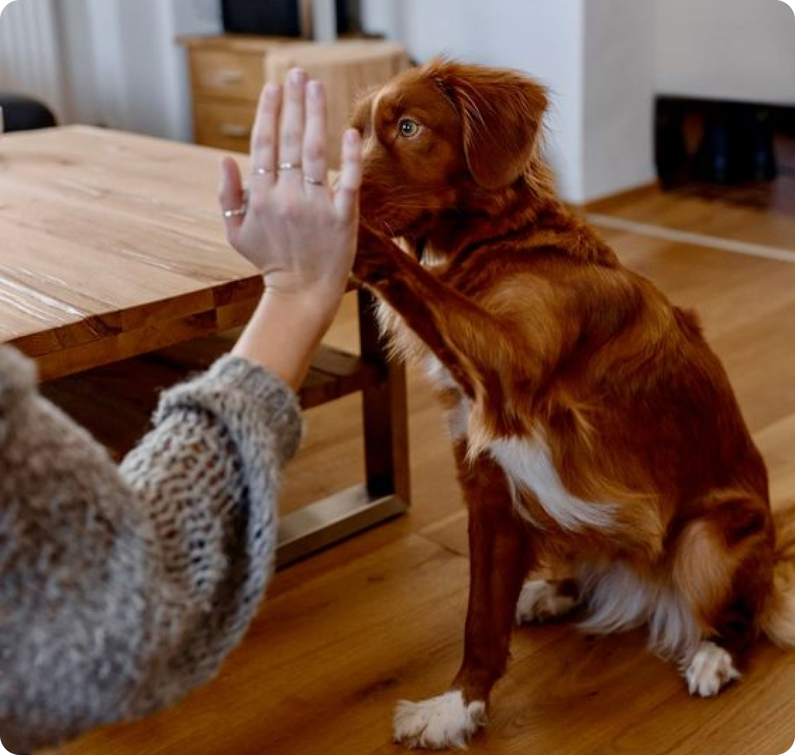
M 653 180 L 653 0 L 363 0 L 363 25 L 547 84 L 550 162 L 584 203 Z

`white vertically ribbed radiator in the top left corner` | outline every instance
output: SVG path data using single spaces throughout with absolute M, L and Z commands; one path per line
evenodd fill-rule
M 63 118 L 64 81 L 55 2 L 17 0 L 0 14 L 0 90 L 30 95 Z

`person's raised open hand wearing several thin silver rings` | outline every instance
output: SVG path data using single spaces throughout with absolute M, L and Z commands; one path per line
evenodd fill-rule
M 281 122 L 280 122 L 281 121 Z M 342 165 L 327 185 L 326 94 L 298 69 L 262 91 L 251 137 L 248 195 L 236 161 L 223 161 L 220 203 L 231 246 L 262 271 L 266 297 L 329 310 L 339 305 L 356 249 L 362 146 L 343 137 Z

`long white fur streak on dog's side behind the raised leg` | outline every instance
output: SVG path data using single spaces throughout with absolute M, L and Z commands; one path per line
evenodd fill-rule
M 569 493 L 541 435 L 501 438 L 490 444 L 489 451 L 514 487 L 514 505 L 525 519 L 533 521 L 518 495 L 522 491 L 533 494 L 549 517 L 569 532 L 613 528 L 616 506 L 583 501 Z

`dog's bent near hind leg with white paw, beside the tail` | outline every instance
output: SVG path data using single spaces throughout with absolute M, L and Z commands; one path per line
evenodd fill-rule
M 691 695 L 709 697 L 734 679 L 760 633 L 773 583 L 774 535 L 765 501 L 716 494 L 677 538 L 673 579 L 701 628 L 681 660 Z

